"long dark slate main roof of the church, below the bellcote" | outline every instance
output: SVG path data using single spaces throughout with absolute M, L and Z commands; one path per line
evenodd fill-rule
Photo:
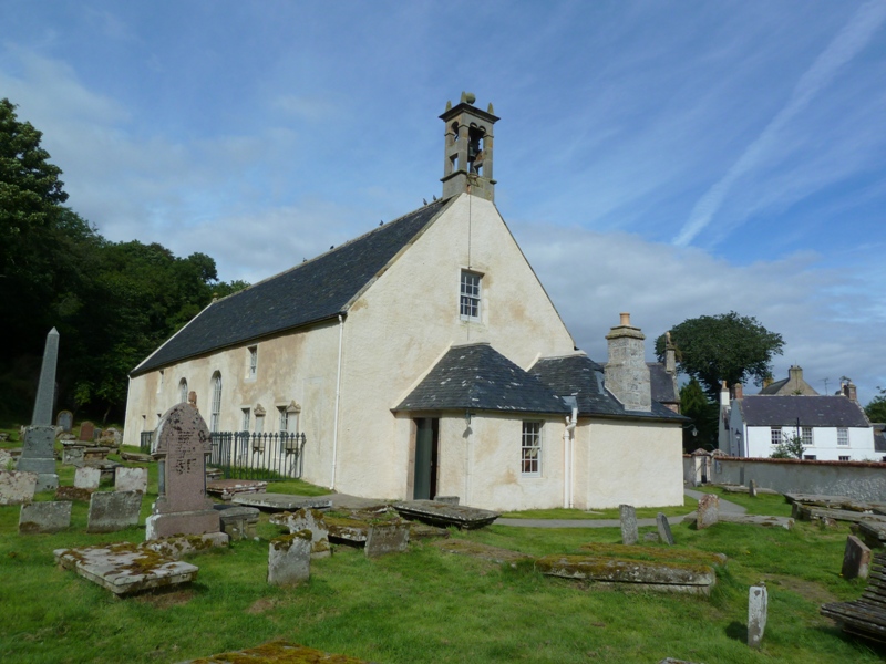
M 425 205 L 312 260 L 213 302 L 136 366 L 132 375 L 346 313 L 356 297 L 421 234 L 447 200 Z

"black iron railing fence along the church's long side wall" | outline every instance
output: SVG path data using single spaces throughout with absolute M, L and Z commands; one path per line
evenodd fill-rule
M 143 432 L 141 449 L 151 453 L 154 432 Z M 305 434 L 286 432 L 257 434 L 216 432 L 210 434 L 212 452 L 206 463 L 218 468 L 225 479 L 299 479 L 303 470 Z

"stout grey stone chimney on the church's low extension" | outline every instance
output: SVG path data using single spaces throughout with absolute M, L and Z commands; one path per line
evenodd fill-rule
M 630 324 L 630 314 L 622 313 L 621 322 L 612 328 L 609 342 L 609 362 L 606 364 L 606 388 L 622 403 L 626 411 L 652 409 L 652 387 L 646 365 L 643 340 L 639 328 Z

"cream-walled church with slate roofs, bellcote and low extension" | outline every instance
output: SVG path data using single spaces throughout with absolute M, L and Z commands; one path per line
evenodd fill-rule
M 197 394 L 214 432 L 303 432 L 303 477 L 492 509 L 682 502 L 680 415 L 629 318 L 577 351 L 495 207 L 493 125 L 445 124 L 443 197 L 213 302 L 135 367 L 125 443 Z M 645 372 L 645 373 L 643 373 Z

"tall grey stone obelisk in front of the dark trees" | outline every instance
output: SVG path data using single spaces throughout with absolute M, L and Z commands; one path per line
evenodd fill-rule
M 59 332 L 53 328 L 47 334 L 43 366 L 37 387 L 31 426 L 24 429 L 24 443 L 19 457 L 19 470 L 37 473 L 37 490 L 49 491 L 59 486 L 55 473 L 55 427 L 52 426 L 52 406 L 55 398 L 55 363 L 59 360 Z

